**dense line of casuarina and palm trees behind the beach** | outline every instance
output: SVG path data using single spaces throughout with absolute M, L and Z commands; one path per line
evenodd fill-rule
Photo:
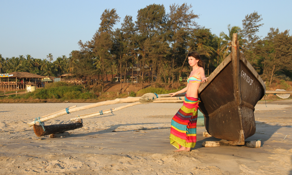
M 93 38 L 79 41 L 80 50 L 72 51 L 69 58 L 63 55 L 52 62 L 52 54 L 47 55 L 47 60 L 30 55 L 4 59 L 0 55 L 0 71 L 28 71 L 44 76 L 73 73 L 79 78 L 98 75 L 103 85 L 102 80 L 108 80 L 107 75 L 124 77 L 126 68 L 136 65 L 141 70 L 140 82 L 153 82 L 153 76 L 145 75 L 155 75 L 155 81 L 173 84 L 179 77 L 190 74 L 186 55 L 193 50 L 205 60 L 204 69 L 209 76 L 229 55 L 232 34 L 237 33 L 240 51 L 264 81 L 271 83 L 276 75 L 286 79 L 292 76 L 289 30 L 280 32 L 271 28 L 267 36 L 260 39 L 257 33 L 263 24 L 257 12 L 245 16 L 242 29 L 228 25 L 227 33 L 216 36 L 196 23 L 199 16 L 191 10 L 191 5 L 172 4 L 169 8 L 166 14 L 163 5 L 149 5 L 138 10 L 136 21 L 127 15 L 117 29 L 113 27 L 121 18 L 115 9 L 106 9 Z

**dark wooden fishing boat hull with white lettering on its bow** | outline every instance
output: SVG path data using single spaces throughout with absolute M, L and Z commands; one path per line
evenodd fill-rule
M 233 145 L 256 132 L 254 107 L 265 95 L 265 84 L 239 52 L 237 34 L 232 51 L 199 88 L 199 110 L 204 114 L 207 132 Z

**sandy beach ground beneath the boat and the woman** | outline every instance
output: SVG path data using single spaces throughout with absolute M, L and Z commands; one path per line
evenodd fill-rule
M 39 140 L 26 124 L 74 105 L 87 104 L 0 104 L 0 174 L 292 174 L 292 101 L 256 105 L 256 133 L 246 141 L 261 139 L 261 148 L 202 147 L 203 141 L 220 139 L 203 137 L 205 127 L 198 126 L 195 148 L 174 153 L 170 123 L 179 103 L 137 105 L 86 118 L 83 128 L 63 138 Z M 122 105 L 77 111 L 45 125 Z

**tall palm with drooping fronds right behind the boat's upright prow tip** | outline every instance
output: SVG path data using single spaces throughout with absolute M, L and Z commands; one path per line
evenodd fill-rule
M 240 27 L 233 26 L 233 27 L 230 28 L 230 24 L 228 24 L 227 29 L 228 29 L 228 35 L 225 34 L 223 31 L 220 32 L 220 37 L 225 39 L 225 40 L 222 40 L 224 45 L 225 45 L 225 51 L 224 51 L 224 55 L 223 55 L 224 58 L 227 55 L 229 55 L 229 53 L 231 51 L 231 47 L 232 47 L 231 42 L 232 42 L 232 36 L 233 36 L 234 33 L 237 33 L 239 45 L 242 42 L 242 39 L 241 39 L 242 35 L 240 33 L 241 32 Z

